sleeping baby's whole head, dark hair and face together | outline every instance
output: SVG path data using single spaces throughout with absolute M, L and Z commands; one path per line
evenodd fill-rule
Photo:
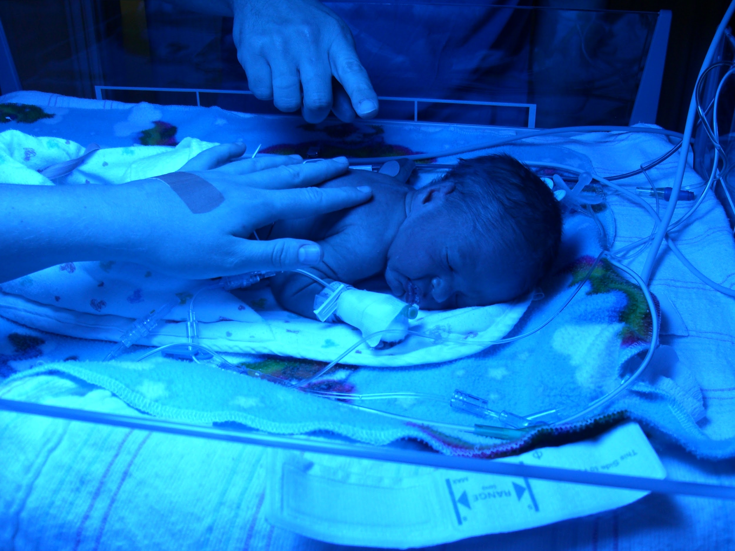
M 553 193 L 512 156 L 460 160 L 409 195 L 385 271 L 423 309 L 485 306 L 523 295 L 551 268 L 562 237 Z

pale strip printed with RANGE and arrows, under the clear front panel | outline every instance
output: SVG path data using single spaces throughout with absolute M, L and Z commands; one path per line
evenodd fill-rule
M 608 511 L 648 492 L 271 450 L 268 519 L 343 545 L 423 547 Z M 634 422 L 507 461 L 664 478 Z

